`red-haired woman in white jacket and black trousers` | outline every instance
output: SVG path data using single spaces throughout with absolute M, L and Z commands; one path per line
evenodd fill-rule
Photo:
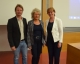
M 49 64 L 59 64 L 63 41 L 63 26 L 61 19 L 55 17 L 55 9 L 47 9 L 49 20 L 46 22 L 46 45 L 49 53 Z M 54 58 L 54 59 L 53 59 Z

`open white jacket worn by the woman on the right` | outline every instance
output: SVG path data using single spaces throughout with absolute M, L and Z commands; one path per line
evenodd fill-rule
M 47 26 L 48 26 L 49 19 L 46 21 L 46 41 L 47 41 Z M 54 42 L 59 41 L 60 43 L 63 42 L 63 25 L 62 20 L 55 17 L 53 27 L 52 27 L 52 36 L 54 39 Z

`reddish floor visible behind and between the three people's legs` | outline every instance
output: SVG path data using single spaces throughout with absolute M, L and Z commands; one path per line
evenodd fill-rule
M 0 52 L 0 64 L 13 64 L 13 52 Z M 31 64 L 32 55 L 28 52 L 28 64 Z M 20 54 L 19 63 L 22 64 L 22 56 Z M 42 53 L 39 64 L 48 64 L 48 54 Z M 61 52 L 60 64 L 66 64 L 66 52 Z

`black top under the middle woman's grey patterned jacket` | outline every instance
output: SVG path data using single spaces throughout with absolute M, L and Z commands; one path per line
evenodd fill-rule
M 34 24 L 34 28 L 33 28 L 34 37 L 39 36 L 41 39 L 42 38 L 42 31 L 43 31 L 43 29 L 42 29 L 41 24 L 39 24 L 39 25 Z

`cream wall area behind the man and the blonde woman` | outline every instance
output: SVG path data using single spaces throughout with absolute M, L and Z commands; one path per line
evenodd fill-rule
M 31 19 L 31 11 L 34 8 L 41 10 L 41 0 L 0 0 L 0 25 L 6 25 L 9 18 L 15 16 L 15 6 L 21 4 L 24 7 L 23 17 Z

